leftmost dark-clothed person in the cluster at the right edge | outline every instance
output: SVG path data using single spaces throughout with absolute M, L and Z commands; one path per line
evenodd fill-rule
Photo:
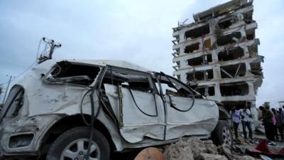
M 266 107 L 259 107 L 259 109 L 262 111 L 262 117 L 263 117 L 263 126 L 266 131 L 266 138 L 269 142 L 274 142 L 274 136 L 273 136 L 273 114 L 270 110 L 270 107 L 267 105 Z

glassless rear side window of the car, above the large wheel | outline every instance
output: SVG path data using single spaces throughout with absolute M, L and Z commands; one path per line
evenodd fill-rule
M 66 82 L 75 85 L 91 85 L 99 74 L 99 67 L 81 63 L 59 62 L 51 71 L 49 82 Z

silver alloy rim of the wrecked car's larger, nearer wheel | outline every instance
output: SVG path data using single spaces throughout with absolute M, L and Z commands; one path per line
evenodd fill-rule
M 91 142 L 91 149 L 89 154 L 89 160 L 99 160 L 100 151 L 99 146 L 95 142 Z M 63 149 L 60 156 L 60 160 L 85 160 L 87 159 L 89 139 L 77 139 L 68 144 Z

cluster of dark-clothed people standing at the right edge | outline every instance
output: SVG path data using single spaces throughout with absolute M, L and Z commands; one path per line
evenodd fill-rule
M 276 141 L 283 142 L 283 127 L 284 127 L 284 112 L 280 107 L 278 110 L 275 108 L 270 109 L 270 105 L 266 104 L 259 107 L 261 113 L 258 115 L 258 119 L 261 120 L 268 143 L 275 144 Z M 280 138 L 278 137 L 280 133 Z

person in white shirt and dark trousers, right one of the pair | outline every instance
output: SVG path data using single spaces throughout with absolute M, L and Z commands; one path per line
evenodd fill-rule
M 246 127 L 249 129 L 249 139 L 253 138 L 253 132 L 251 129 L 251 111 L 247 106 L 244 107 L 244 109 L 240 110 L 241 113 L 241 124 L 243 126 L 243 133 L 244 133 L 244 139 L 248 139 L 246 135 Z

